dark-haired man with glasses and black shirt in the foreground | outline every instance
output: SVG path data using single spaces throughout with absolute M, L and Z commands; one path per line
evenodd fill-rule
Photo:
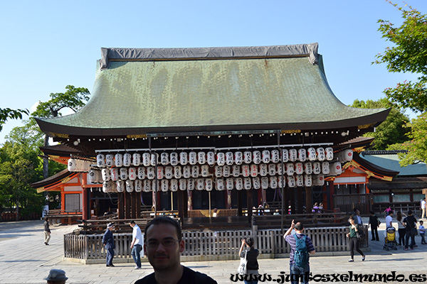
M 152 219 L 145 227 L 144 253 L 154 273 L 135 284 L 218 284 L 208 275 L 181 266 L 184 251 L 181 226 L 169 217 Z

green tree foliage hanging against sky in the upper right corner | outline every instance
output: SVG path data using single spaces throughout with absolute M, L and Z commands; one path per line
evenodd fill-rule
M 390 104 L 409 108 L 413 111 L 427 111 L 427 16 L 411 6 L 399 7 L 404 22 L 394 26 L 386 20 L 379 20 L 382 38 L 394 43 L 384 53 L 376 55 L 375 64 L 385 63 L 389 72 L 411 72 L 419 75 L 416 82 L 400 82 L 394 88 L 384 90 Z M 406 5 L 405 5 L 406 6 Z

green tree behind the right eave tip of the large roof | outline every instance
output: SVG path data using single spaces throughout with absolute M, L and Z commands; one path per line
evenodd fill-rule
M 387 107 L 387 105 L 387 99 L 379 99 L 378 101 L 369 99 L 366 102 L 355 99 L 351 107 L 378 109 Z M 386 150 L 386 148 L 395 143 L 401 144 L 409 140 L 406 136 L 406 133 L 410 130 L 407 126 L 408 122 L 408 116 L 404 114 L 404 111 L 393 107 L 386 120 L 376 127 L 375 132 L 365 133 L 364 136 L 375 138 L 371 147 L 372 150 Z

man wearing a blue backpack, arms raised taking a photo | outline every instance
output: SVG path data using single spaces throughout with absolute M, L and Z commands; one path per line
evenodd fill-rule
M 292 229 L 295 228 L 296 234 L 291 234 Z M 289 253 L 289 270 L 290 280 L 292 284 L 308 283 L 308 276 L 310 275 L 310 254 L 315 254 L 315 246 L 313 246 L 310 237 L 303 234 L 304 225 L 294 220 L 290 224 L 290 228 L 283 235 L 285 241 L 290 246 Z

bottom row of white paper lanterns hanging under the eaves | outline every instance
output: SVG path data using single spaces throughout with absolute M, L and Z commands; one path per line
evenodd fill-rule
M 285 183 L 283 184 L 283 180 Z M 189 178 L 172 180 L 112 180 L 102 183 L 103 192 L 176 192 L 178 190 L 255 190 L 283 187 L 311 187 L 325 185 L 324 175 L 272 176 L 255 178 Z

